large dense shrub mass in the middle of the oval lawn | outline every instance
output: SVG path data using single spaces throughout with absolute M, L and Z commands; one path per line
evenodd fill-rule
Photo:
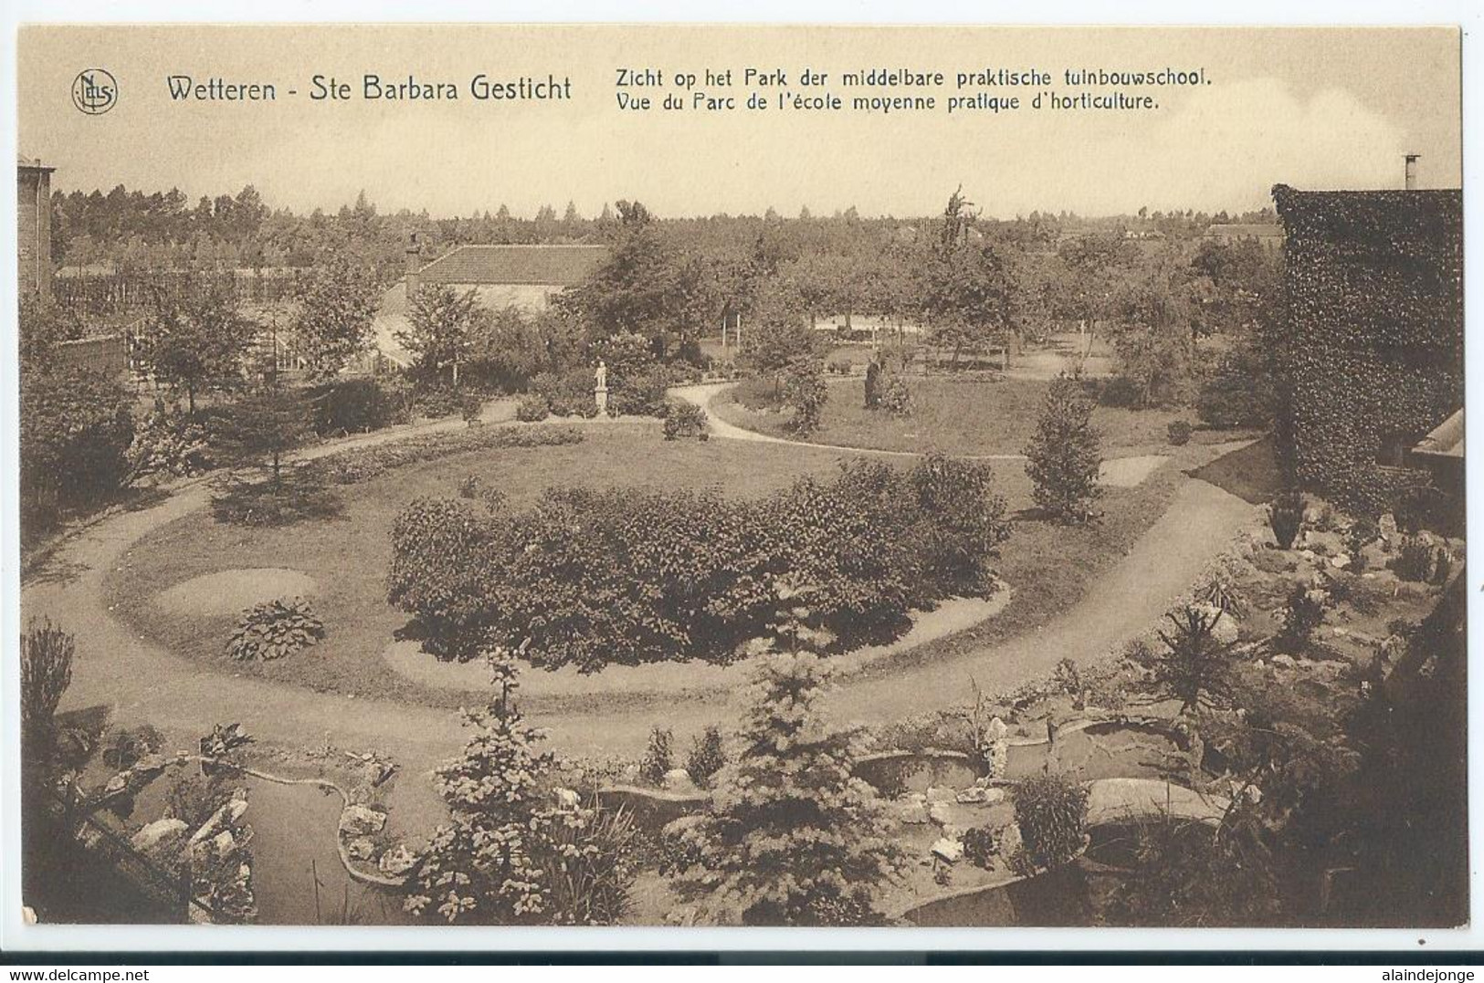
M 856 461 L 752 501 L 555 488 L 525 512 L 476 512 L 423 498 L 393 526 L 389 595 L 444 658 L 508 645 L 585 672 L 727 661 L 784 609 L 782 580 L 849 646 L 893 636 L 911 608 L 988 592 L 1008 534 L 988 469 L 945 457 L 908 471 Z

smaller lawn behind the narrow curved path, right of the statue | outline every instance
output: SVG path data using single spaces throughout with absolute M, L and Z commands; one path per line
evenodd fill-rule
M 907 418 L 865 409 L 864 385 L 864 378 L 831 381 L 824 426 L 809 439 L 879 451 L 1021 454 L 1036 430 L 1048 383 L 1000 377 L 910 378 L 913 415 Z M 732 399 L 733 393 L 724 391 L 712 402 L 712 412 L 721 420 L 772 436 L 791 436 L 785 428 L 787 412 L 749 409 Z M 1166 427 L 1172 420 L 1195 423 L 1195 414 L 1114 406 L 1098 406 L 1092 414 L 1107 457 L 1166 452 Z M 1195 439 L 1205 436 L 1202 431 Z

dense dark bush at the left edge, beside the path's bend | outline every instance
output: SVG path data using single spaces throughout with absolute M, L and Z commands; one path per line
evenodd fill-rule
M 21 377 L 21 509 L 45 528 L 105 503 L 128 482 L 134 397 L 117 381 L 52 368 Z

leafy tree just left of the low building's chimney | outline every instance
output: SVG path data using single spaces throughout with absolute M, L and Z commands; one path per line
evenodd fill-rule
M 380 297 L 367 267 L 335 256 L 315 267 L 295 291 L 294 335 L 316 378 L 331 378 L 371 344 Z

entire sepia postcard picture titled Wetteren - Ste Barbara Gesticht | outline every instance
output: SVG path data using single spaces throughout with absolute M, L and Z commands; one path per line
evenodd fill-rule
M 1469 925 L 1457 25 L 13 43 L 28 927 Z

